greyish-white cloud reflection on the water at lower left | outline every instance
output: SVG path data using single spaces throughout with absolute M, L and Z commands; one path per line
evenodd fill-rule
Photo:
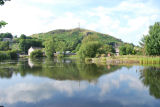
M 82 91 L 86 84 L 73 81 L 51 81 L 36 83 L 17 83 L 7 88 L 0 88 L 0 103 L 14 104 L 17 102 L 36 103 L 49 99 L 56 92 L 72 96 L 73 92 Z

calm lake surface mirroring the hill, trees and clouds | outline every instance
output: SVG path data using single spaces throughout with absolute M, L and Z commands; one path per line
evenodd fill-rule
M 160 106 L 160 67 L 85 64 L 77 60 L 0 62 L 5 107 Z

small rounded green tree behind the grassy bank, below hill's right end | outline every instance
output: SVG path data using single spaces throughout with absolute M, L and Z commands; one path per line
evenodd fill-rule
M 119 47 L 119 54 L 120 55 L 134 55 L 136 54 L 134 50 L 134 45 L 132 44 L 124 44 Z

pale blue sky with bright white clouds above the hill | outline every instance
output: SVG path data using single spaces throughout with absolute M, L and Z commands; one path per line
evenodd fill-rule
M 1 33 L 31 35 L 81 28 L 138 45 L 160 21 L 160 0 L 11 0 L 0 6 Z

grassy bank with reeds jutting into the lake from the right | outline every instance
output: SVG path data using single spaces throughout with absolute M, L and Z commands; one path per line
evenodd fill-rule
M 86 58 L 86 61 L 109 64 L 160 64 L 160 56 L 124 55 L 100 58 Z

